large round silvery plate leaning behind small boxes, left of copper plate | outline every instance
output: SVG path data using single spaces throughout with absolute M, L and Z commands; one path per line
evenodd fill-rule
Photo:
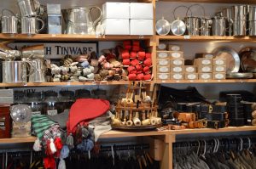
M 240 69 L 240 58 L 239 55 L 233 48 L 220 47 L 213 51 L 215 58 L 226 59 L 226 72 L 236 73 Z

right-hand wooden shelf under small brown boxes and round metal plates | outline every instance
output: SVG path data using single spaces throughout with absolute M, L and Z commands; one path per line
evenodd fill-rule
M 156 83 L 249 83 L 256 79 L 225 79 L 225 80 L 157 80 Z

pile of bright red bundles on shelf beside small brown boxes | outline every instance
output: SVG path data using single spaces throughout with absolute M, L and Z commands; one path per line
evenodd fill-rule
M 121 57 L 123 65 L 127 66 L 130 81 L 144 81 L 151 79 L 151 53 L 140 48 L 139 41 L 124 41 Z

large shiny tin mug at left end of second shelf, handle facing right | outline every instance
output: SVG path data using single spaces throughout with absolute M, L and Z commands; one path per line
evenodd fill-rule
M 2 62 L 3 82 L 6 82 L 6 83 L 26 82 L 26 77 L 30 76 L 33 70 L 34 70 L 33 66 L 29 62 L 3 61 Z

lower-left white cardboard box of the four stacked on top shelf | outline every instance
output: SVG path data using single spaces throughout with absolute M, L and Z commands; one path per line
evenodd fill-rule
M 105 35 L 129 35 L 129 20 L 105 19 L 102 23 Z

